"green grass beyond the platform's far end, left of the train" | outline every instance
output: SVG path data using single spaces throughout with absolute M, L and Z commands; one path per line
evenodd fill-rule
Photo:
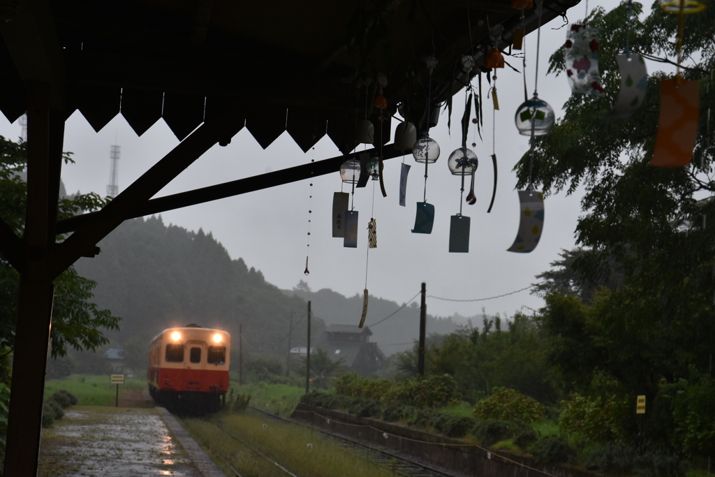
M 109 375 L 74 374 L 45 381 L 45 399 L 62 389 L 77 396 L 78 405 L 114 405 L 117 395 L 117 385 L 109 383 Z M 119 405 L 147 407 L 151 402 L 145 380 L 124 378 L 119 385 Z

